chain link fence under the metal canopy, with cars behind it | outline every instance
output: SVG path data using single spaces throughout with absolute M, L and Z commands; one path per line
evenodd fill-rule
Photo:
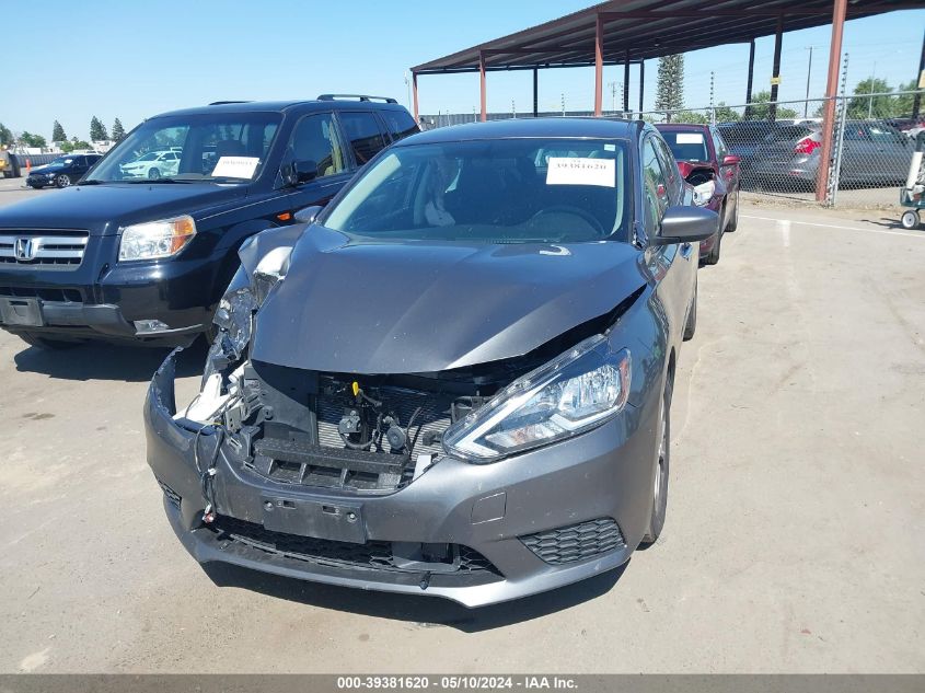
M 729 153 L 739 157 L 743 192 L 817 204 L 822 165 L 824 99 L 724 104 L 682 111 L 614 112 L 605 117 L 641 117 L 650 123 L 716 125 Z M 835 100 L 828 206 L 895 207 L 925 129 L 925 91 L 840 96 Z M 922 115 L 916 113 L 916 101 Z M 590 116 L 590 112 L 543 113 L 541 116 Z M 492 120 L 532 114 L 492 113 Z M 430 127 L 478 120 L 477 114 L 425 116 Z

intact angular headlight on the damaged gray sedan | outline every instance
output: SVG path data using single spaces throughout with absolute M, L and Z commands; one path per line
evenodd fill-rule
M 611 351 L 603 335 L 590 337 L 453 424 L 443 448 L 485 463 L 583 432 L 623 409 L 629 378 L 629 351 Z

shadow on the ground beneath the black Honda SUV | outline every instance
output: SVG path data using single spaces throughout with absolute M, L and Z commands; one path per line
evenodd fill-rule
M 144 382 L 170 354 L 169 348 L 117 346 L 86 343 L 70 349 L 26 347 L 13 361 L 20 372 L 33 372 L 56 380 L 120 380 Z M 176 376 L 185 378 L 203 372 L 206 347 L 201 339 L 181 351 Z

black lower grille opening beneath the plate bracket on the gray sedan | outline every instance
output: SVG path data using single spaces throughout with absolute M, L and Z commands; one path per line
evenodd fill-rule
M 392 554 L 392 542 L 368 541 L 365 544 L 351 544 L 326 539 L 299 536 L 285 532 L 274 532 L 261 524 L 245 522 L 227 516 L 219 516 L 215 522 L 206 525 L 218 534 L 217 539 L 232 541 L 258 548 L 273 555 L 286 556 L 316 565 L 337 568 L 357 568 L 365 570 L 384 570 L 388 573 L 423 573 L 420 567 L 405 568 L 398 565 Z M 441 573 L 454 575 L 485 574 L 500 577 L 500 571 L 485 556 L 474 548 L 461 544 L 450 544 L 448 561 L 440 565 Z M 454 567 L 454 569 L 452 569 Z

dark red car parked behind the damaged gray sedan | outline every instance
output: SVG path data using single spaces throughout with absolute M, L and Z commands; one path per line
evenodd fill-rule
M 681 175 L 694 186 L 695 204 L 719 215 L 716 235 L 701 242 L 701 263 L 719 262 L 722 234 L 739 223 L 739 162 L 712 125 L 656 125 L 678 161 Z

